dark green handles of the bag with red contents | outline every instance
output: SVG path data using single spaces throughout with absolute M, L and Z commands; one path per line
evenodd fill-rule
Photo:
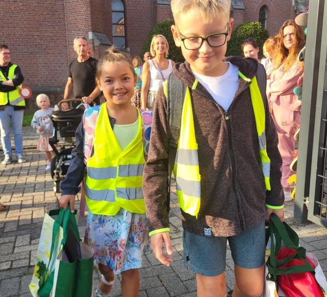
M 271 214 L 268 229 L 270 235 L 270 256 L 267 260 L 267 267 L 270 275 L 267 275 L 267 280 L 275 282 L 277 275 L 315 271 L 314 268 L 306 260 L 306 249 L 298 246 L 298 236 L 289 225 L 287 225 L 285 222 L 282 223 L 275 214 Z M 274 238 L 276 240 L 276 248 L 274 246 Z M 282 241 L 285 247 L 292 248 L 296 252 L 285 259 L 276 261 L 276 254 L 281 249 Z M 292 259 L 301 259 L 304 264 L 279 268 Z

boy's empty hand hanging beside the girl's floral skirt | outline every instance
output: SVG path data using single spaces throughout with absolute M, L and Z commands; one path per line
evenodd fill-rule
M 164 248 L 164 243 L 166 246 L 167 254 L 162 252 Z M 169 232 L 161 232 L 151 236 L 151 247 L 154 252 L 155 258 L 157 258 L 162 264 L 170 266 L 170 263 L 173 262 L 172 254 L 173 248 L 170 241 Z

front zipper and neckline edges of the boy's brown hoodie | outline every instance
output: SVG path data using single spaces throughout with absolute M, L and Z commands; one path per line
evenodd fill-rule
M 239 93 L 237 94 L 237 97 L 246 89 L 248 88 L 248 86 L 250 85 L 250 82 L 246 83 L 243 88 L 239 91 Z M 199 95 L 208 98 L 212 101 L 214 101 L 216 104 L 218 104 L 214 98 L 206 96 L 205 94 L 203 94 L 202 92 L 197 91 L 196 89 L 194 90 L 194 92 L 198 93 Z M 227 111 L 225 111 L 225 122 L 227 125 L 227 134 L 228 134 L 228 146 L 229 146 L 229 155 L 230 155 L 230 162 L 231 162 L 231 171 L 232 171 L 232 188 L 234 190 L 235 193 L 235 197 L 236 197 L 236 202 L 237 202 L 237 210 L 238 210 L 238 214 L 239 214 L 239 221 L 240 221 L 240 227 L 241 230 L 244 230 L 244 216 L 243 216 L 243 212 L 241 210 L 241 198 L 239 197 L 239 195 L 237 194 L 237 189 L 236 189 L 236 156 L 235 156 L 235 152 L 233 150 L 233 145 L 232 145 L 232 140 L 231 140 L 231 125 L 230 125 L 230 118 L 229 118 L 229 110 L 232 107 L 233 103 L 236 101 L 237 97 L 235 97 L 235 99 L 232 101 L 232 103 L 230 104 L 230 107 L 228 108 Z M 218 104 L 219 105 L 219 104 Z M 219 107 L 224 110 L 221 105 L 219 105 Z

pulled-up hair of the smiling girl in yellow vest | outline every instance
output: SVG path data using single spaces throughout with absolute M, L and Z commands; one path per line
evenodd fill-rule
M 136 78 L 133 62 L 130 55 L 128 53 L 118 50 L 115 46 L 108 47 L 106 49 L 105 55 L 99 60 L 96 74 L 97 79 L 100 79 L 102 67 L 105 62 L 126 63 L 134 74 L 134 78 Z

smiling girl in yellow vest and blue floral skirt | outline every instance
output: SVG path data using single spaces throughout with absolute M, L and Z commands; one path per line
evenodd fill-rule
M 136 75 L 128 54 L 109 48 L 98 63 L 96 81 L 106 102 L 87 109 L 76 131 L 60 206 L 69 203 L 74 210 L 86 166 L 89 212 L 84 241 L 95 249 L 95 264 L 102 274 L 95 295 L 110 296 L 114 275 L 121 273 L 123 296 L 138 296 L 138 269 L 149 246 L 142 172 L 152 114 L 131 105 Z

